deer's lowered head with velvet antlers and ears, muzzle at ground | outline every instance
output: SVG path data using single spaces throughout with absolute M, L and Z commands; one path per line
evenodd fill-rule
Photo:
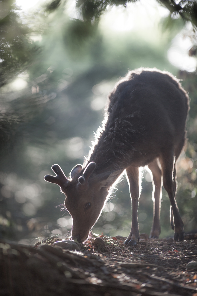
M 98 220 L 110 186 L 115 182 L 123 170 L 111 170 L 95 174 L 96 163 L 89 163 L 85 169 L 76 165 L 66 178 L 59 165 L 53 165 L 56 176 L 46 175 L 46 181 L 60 186 L 66 195 L 65 207 L 73 218 L 72 239 L 84 242 L 89 231 Z

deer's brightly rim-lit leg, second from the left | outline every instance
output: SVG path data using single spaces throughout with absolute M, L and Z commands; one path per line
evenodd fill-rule
M 158 238 L 161 233 L 160 225 L 160 210 L 161 210 L 161 199 L 162 199 L 162 171 L 160 170 L 157 159 L 153 160 L 148 165 L 152 172 L 152 200 L 153 200 L 153 220 L 152 228 L 150 232 L 150 238 Z

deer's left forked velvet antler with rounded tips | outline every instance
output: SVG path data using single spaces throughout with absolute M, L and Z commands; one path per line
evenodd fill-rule
M 46 175 L 44 176 L 44 179 L 47 182 L 51 182 L 54 184 L 57 184 L 61 187 L 61 190 L 66 189 L 66 187 L 69 185 L 69 180 L 64 175 L 63 170 L 60 168 L 59 165 L 53 165 L 52 170 L 56 173 L 56 176 Z

